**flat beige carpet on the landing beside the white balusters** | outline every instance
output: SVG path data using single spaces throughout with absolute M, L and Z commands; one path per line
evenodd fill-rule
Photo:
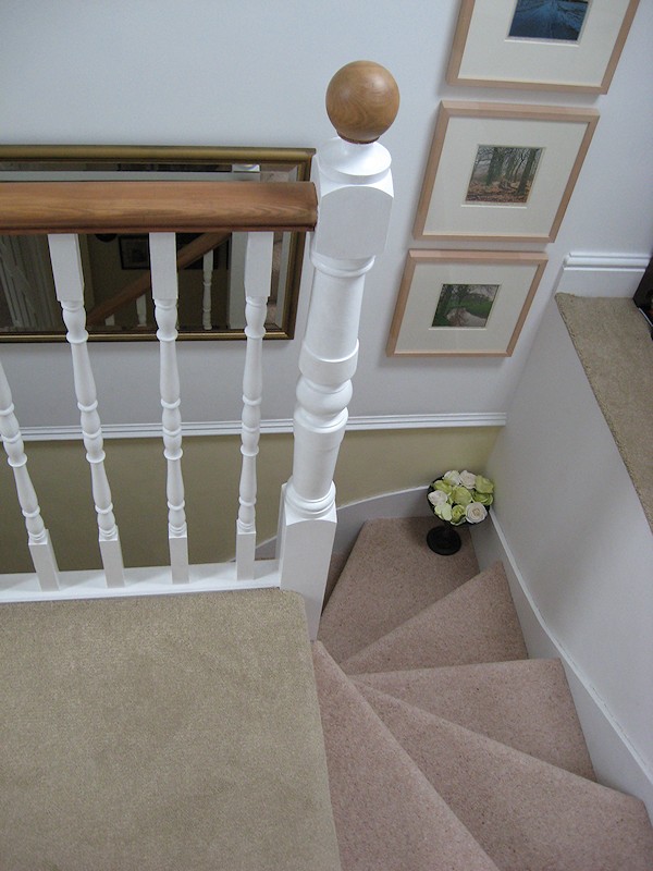
M 0 608 L 2 871 L 337 871 L 301 600 Z

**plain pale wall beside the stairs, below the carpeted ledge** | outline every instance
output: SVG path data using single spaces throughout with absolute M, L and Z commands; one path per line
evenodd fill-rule
M 583 727 L 596 771 L 646 798 L 653 812 L 653 538 L 554 302 L 488 474 L 501 492 L 493 514 L 528 596 L 594 699 Z M 609 741 L 594 743 L 604 719 L 634 774 L 628 765 L 615 771 Z

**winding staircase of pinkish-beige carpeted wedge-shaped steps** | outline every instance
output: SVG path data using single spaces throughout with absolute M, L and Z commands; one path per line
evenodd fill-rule
M 653 869 L 641 801 L 596 783 L 557 660 L 501 564 L 367 524 L 313 646 L 343 871 Z M 466 530 L 464 530 L 466 531 Z

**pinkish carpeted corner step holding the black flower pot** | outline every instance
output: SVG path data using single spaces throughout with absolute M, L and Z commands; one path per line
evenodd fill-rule
M 319 639 L 337 661 L 447 596 L 479 568 L 468 529 L 455 559 L 429 550 L 432 517 L 367 523 L 329 599 Z

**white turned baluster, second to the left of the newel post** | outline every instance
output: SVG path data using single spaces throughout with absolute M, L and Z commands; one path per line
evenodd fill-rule
M 174 584 L 188 581 L 188 530 L 182 477 L 182 413 L 176 360 L 177 273 L 174 233 L 150 233 L 150 265 L 160 348 L 163 455 L 168 461 L 168 538 Z

